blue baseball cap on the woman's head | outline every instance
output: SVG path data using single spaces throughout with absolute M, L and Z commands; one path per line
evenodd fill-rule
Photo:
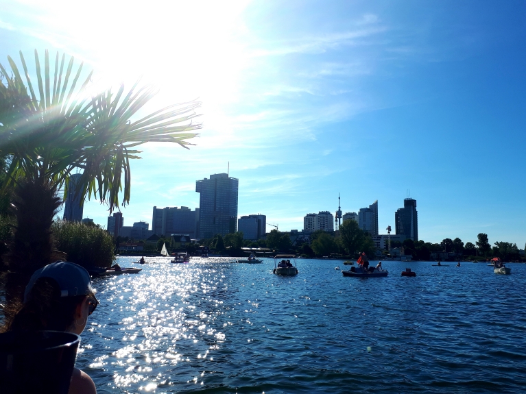
M 29 293 L 36 280 L 39 278 L 51 278 L 56 280 L 60 287 L 60 297 L 74 297 L 75 295 L 88 295 L 95 293 L 91 287 L 91 278 L 88 271 L 79 264 L 69 261 L 58 261 L 47 264 L 37 269 L 29 283 L 25 287 L 24 302 L 27 301 Z

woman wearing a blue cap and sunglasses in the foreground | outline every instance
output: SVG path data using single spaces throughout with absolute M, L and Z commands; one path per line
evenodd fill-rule
M 53 262 L 32 275 L 24 302 L 3 331 L 55 330 L 81 334 L 99 301 L 88 271 L 73 262 Z M 73 369 L 69 394 L 96 394 L 93 380 Z

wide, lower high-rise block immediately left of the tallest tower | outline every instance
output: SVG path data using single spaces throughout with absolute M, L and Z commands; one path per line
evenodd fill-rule
M 199 208 L 191 210 L 186 206 L 181 208 L 154 206 L 152 215 L 152 231 L 158 236 L 170 234 L 186 234 L 190 238 L 199 237 Z

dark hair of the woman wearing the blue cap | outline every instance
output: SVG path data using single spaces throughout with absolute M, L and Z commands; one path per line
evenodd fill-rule
M 9 314 L 12 317 L 3 331 L 69 331 L 75 321 L 75 310 L 84 297 L 60 297 L 56 280 L 38 278 L 25 303 L 10 306 L 14 313 Z

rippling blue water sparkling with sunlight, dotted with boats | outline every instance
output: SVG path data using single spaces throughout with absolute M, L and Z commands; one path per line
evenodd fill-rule
M 99 393 L 523 393 L 525 264 L 384 262 L 344 278 L 337 260 L 130 264 L 97 278 L 101 306 L 77 367 Z M 374 264 L 374 263 L 372 263 Z M 403 278 L 411 267 L 416 278 Z

